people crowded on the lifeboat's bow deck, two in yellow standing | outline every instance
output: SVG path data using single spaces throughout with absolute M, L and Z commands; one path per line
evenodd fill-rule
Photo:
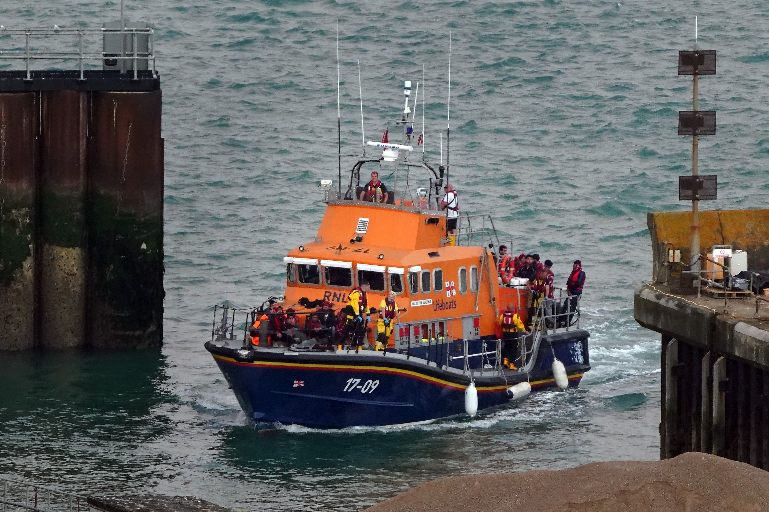
M 355 287 L 348 295 L 348 302 L 338 312 L 334 311 L 334 302 L 324 300 L 315 312 L 304 313 L 305 321 L 294 308 L 283 309 L 277 304 L 269 312 L 262 313 L 248 329 L 253 345 L 283 345 L 299 348 L 334 348 L 337 344 L 349 342 L 360 346 L 365 339 L 365 323 L 371 321 L 371 314 L 378 313 L 376 350 L 387 348 L 388 339 L 395 325 L 401 325 L 395 292 L 379 303 L 378 312 L 368 309 L 367 281 Z M 365 319 L 365 322 L 364 322 Z M 265 342 L 261 343 L 261 339 Z

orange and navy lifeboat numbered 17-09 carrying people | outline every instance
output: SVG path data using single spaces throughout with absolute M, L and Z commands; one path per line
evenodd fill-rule
M 557 289 L 534 300 L 528 279 L 502 282 L 494 249 L 514 241 L 501 242 L 485 214 L 448 224 L 448 168 L 419 151 L 424 130 L 410 114 L 407 94 L 394 122 L 401 144 L 369 142 L 381 155 L 364 151 L 341 187 L 321 182 L 325 214 L 315 239 L 285 256 L 282 296 L 252 309 L 215 307 L 205 348 L 248 418 L 421 424 L 574 388 L 590 369 L 581 296 Z M 391 190 L 361 186 L 385 170 Z M 525 334 L 502 332 L 508 305 Z

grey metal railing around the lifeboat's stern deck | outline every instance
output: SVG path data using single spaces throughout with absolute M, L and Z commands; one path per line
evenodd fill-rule
M 581 295 L 572 295 L 541 299 L 531 318 L 531 335 L 521 344 L 521 372 L 531 370 L 544 335 L 581 329 L 581 298 Z

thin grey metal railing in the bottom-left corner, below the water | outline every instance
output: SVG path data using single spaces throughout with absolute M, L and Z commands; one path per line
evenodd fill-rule
M 2 510 L 33 510 L 35 512 L 86 512 L 91 510 L 88 498 L 58 491 L 51 487 L 0 476 Z

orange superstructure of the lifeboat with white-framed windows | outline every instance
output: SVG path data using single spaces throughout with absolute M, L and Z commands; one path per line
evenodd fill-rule
M 329 201 L 318 236 L 285 258 L 285 302 L 325 299 L 345 306 L 348 292 L 371 282 L 369 308 L 398 294 L 403 328 L 394 340 L 428 342 L 496 335 L 498 309 L 513 302 L 525 317 L 525 289 L 500 286 L 493 255 L 481 246 L 452 246 L 446 218 L 434 210 L 358 201 Z M 373 335 L 368 334 L 373 344 Z

